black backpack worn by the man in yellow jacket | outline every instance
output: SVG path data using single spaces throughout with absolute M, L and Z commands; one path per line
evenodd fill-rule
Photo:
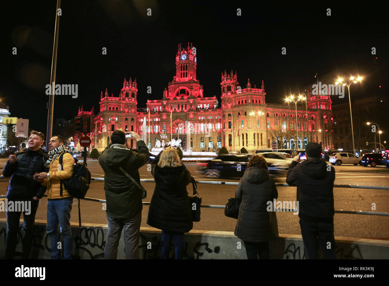
M 63 154 L 69 152 L 63 152 L 60 155 L 60 165 L 62 170 L 62 157 Z M 71 154 L 71 153 L 69 153 Z M 86 164 L 84 162 L 80 163 L 76 158 L 74 158 L 74 167 L 73 167 L 73 177 L 61 180 L 61 189 L 60 195 L 62 196 L 62 184 L 67 189 L 69 195 L 75 198 L 84 198 L 86 192 L 89 189 L 89 184 L 91 183 L 91 172 L 89 172 Z

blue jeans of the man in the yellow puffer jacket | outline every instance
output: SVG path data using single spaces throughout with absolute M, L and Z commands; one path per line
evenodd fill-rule
M 47 202 L 46 232 L 50 235 L 51 259 L 60 258 L 60 249 L 63 248 L 63 259 L 72 259 L 73 237 L 70 228 L 70 211 L 72 211 L 73 197 Z M 63 235 L 63 247 L 60 247 L 60 230 Z

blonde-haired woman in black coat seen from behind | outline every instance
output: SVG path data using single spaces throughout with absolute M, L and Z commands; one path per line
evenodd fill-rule
M 147 224 L 162 230 L 162 259 L 168 259 L 173 240 L 175 259 L 182 259 L 184 232 L 193 228 L 186 186 L 192 176 L 182 164 L 176 149 L 167 148 L 151 163 L 155 189 Z

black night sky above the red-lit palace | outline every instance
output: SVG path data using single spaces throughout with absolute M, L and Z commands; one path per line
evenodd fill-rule
M 266 103 L 283 103 L 285 95 L 303 92 L 316 82 L 316 72 L 323 83 L 335 83 L 337 75 L 362 75 L 363 82 L 352 85 L 352 98 L 387 96 L 389 23 L 381 4 L 273 3 L 62 1 L 56 83 L 78 84 L 78 98 L 56 96 L 54 121 L 74 118 L 81 105 L 98 109 L 100 92 L 108 88 L 118 96 L 124 77 L 137 78 L 138 108 L 147 98 L 161 99 L 175 75 L 177 45 L 187 42 L 197 50 L 204 96 L 216 95 L 219 103 L 221 72 L 231 68 L 242 88 L 248 78 L 257 88 L 264 80 Z M 0 100 L 11 116 L 28 118 L 30 128 L 46 133 L 56 1 L 14 2 L 2 12 Z M 348 102 L 347 93 L 332 99 Z

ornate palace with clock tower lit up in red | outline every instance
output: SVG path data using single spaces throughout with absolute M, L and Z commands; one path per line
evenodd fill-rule
M 313 141 L 322 142 L 323 149 L 333 149 L 332 102 L 329 95 L 312 95 L 307 91 L 304 95 L 307 104 L 304 100 L 302 104 L 300 101 L 297 103 L 296 124 L 294 103 L 266 104 L 263 81 L 261 88 L 255 85 L 253 88 L 248 79 L 246 87 L 241 88 L 237 73 L 231 70 L 230 74 L 225 71 L 221 73 L 219 106 L 216 96 L 204 96 L 203 86 L 197 78 L 197 58 L 196 54 L 192 54 L 192 48 L 193 45 L 189 43 L 186 48 L 179 44 L 173 81 L 163 91 L 162 99 L 147 100 L 146 108 L 137 108 L 137 81 L 132 81 L 131 77 L 129 81 L 124 78 L 118 97 L 109 96 L 107 89 L 105 94 L 101 93 L 97 115 L 93 108 L 91 111 L 79 108 L 77 116 L 93 118 L 93 132 L 89 134 L 92 147 L 103 151 L 109 144 L 110 134 L 122 128 L 135 131 L 141 137 L 146 132 L 150 149 L 155 146 L 156 140 L 161 140 L 162 132 L 166 132 L 169 140 L 171 137 L 181 139 L 184 151 L 212 151 L 225 146 L 229 151 L 239 152 L 240 148 L 245 147 L 252 152 L 272 147 L 272 142 L 278 142 L 279 148 L 304 149 L 307 142 Z M 187 136 L 189 126 L 190 135 Z M 296 127 L 298 147 L 295 144 Z M 280 137 L 284 138 L 280 140 Z M 78 141 L 76 137 L 75 140 Z M 75 142 L 75 145 L 79 149 L 79 143 Z M 136 147 L 130 138 L 127 145 Z

